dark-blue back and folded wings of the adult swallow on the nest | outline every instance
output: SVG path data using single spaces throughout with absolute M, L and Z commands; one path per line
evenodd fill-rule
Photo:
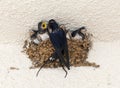
M 66 63 L 64 60 L 64 56 L 62 54 L 62 51 L 65 51 L 64 53 L 68 51 L 66 50 L 67 39 L 66 39 L 65 32 L 63 30 L 58 30 L 57 32 L 50 33 L 49 36 L 50 36 L 50 40 L 55 48 L 55 51 L 59 57 L 61 64 L 64 63 L 65 66 L 69 69 L 68 60 Z

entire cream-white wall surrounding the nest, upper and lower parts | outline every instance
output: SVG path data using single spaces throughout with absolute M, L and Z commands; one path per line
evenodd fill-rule
M 39 21 L 51 18 L 93 33 L 88 61 L 100 68 L 71 67 L 66 79 L 61 68 L 42 69 L 35 77 L 38 69 L 29 69 L 22 40 Z M 0 0 L 0 88 L 120 88 L 119 28 L 120 0 Z

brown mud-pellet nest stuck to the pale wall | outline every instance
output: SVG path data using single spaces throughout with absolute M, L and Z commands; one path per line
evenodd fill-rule
M 96 65 L 96 63 L 87 61 L 88 53 L 92 47 L 92 41 L 89 37 L 90 36 L 86 35 L 84 40 L 67 39 L 71 66 L 99 67 L 99 65 Z M 28 42 L 26 40 L 24 45 L 24 52 L 28 55 L 29 59 L 32 61 L 32 66 L 30 67 L 30 69 L 32 69 L 40 67 L 54 52 L 54 48 L 49 39 L 42 41 L 38 45 L 32 42 Z M 44 68 L 57 68 L 57 67 L 60 67 L 58 60 L 54 61 L 53 63 L 46 64 L 44 66 Z

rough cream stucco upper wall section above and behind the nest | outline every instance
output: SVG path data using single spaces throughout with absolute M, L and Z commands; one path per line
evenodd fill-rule
M 20 43 L 40 20 L 86 26 L 96 41 L 120 38 L 120 0 L 0 0 L 0 43 Z

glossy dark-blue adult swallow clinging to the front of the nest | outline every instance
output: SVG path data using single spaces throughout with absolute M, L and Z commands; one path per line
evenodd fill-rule
M 58 59 L 61 65 L 65 65 L 70 70 L 69 54 L 67 38 L 64 30 L 60 29 L 58 23 L 51 19 L 48 23 L 48 34 L 53 47 L 55 48 L 55 54 L 58 55 Z M 65 59 L 64 59 L 65 55 Z

